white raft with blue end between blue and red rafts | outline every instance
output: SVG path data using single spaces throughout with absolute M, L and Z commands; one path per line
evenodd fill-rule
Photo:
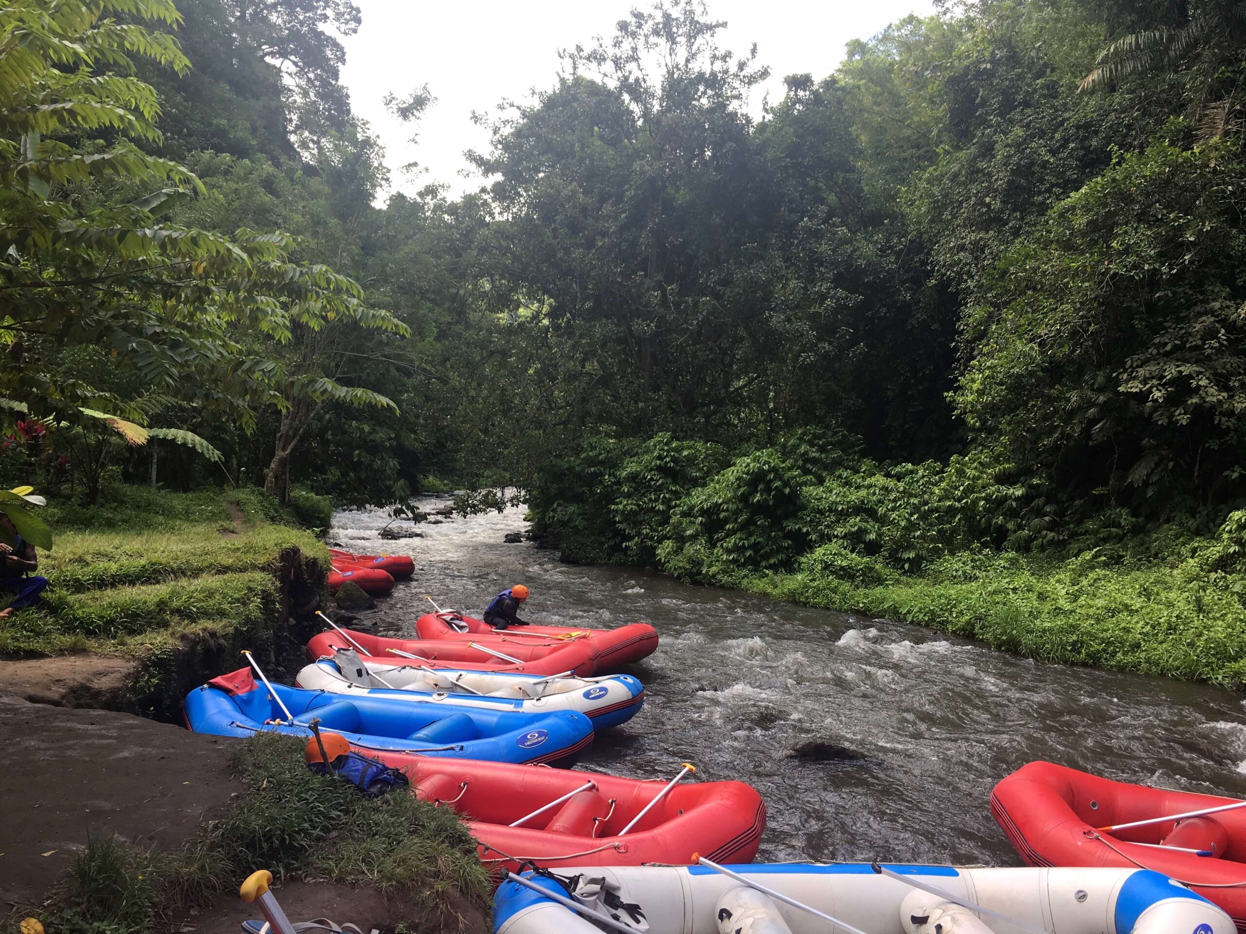
M 632 675 L 542 677 L 496 671 L 389 665 L 364 661 L 351 650 L 303 667 L 295 685 L 330 694 L 406 697 L 449 706 L 548 714 L 574 710 L 606 730 L 630 720 L 644 702 L 644 687 Z

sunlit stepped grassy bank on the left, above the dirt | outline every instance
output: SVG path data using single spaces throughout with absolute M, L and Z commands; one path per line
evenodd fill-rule
M 316 503 L 305 506 L 315 507 Z M 313 521 L 328 508 L 304 509 Z M 174 716 L 184 691 L 272 655 L 292 610 L 319 595 L 328 552 L 299 516 L 257 489 L 169 493 L 113 487 L 102 502 L 51 502 L 44 600 L 0 621 L 0 654 L 136 660 L 137 709 Z

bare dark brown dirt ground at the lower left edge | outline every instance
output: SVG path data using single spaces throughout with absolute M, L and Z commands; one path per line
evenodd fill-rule
M 232 742 L 0 694 L 0 909 L 37 904 L 88 833 L 181 844 L 240 788 Z

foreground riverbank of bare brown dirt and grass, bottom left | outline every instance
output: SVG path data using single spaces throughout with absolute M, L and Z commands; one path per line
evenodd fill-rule
M 232 934 L 257 917 L 238 885 L 267 868 L 295 920 L 486 929 L 488 878 L 455 814 L 314 775 L 302 741 L 0 695 L 0 928 Z

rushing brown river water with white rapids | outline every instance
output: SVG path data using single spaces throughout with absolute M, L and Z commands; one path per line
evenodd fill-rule
M 503 543 L 526 528 L 522 509 L 421 524 L 422 538 L 401 542 L 376 537 L 388 521 L 341 512 L 331 537 L 414 555 L 412 580 L 368 614 L 379 631 L 410 634 L 425 594 L 478 616 L 518 583 L 532 590 L 521 615 L 533 623 L 657 626 L 657 653 L 630 669 L 644 709 L 578 767 L 667 778 L 689 761 L 700 781 L 751 783 L 769 808 L 759 859 L 1017 864 L 988 798 L 1035 758 L 1246 796 L 1246 715 L 1227 691 L 1044 665 L 632 568 L 559 564 L 557 552 Z

